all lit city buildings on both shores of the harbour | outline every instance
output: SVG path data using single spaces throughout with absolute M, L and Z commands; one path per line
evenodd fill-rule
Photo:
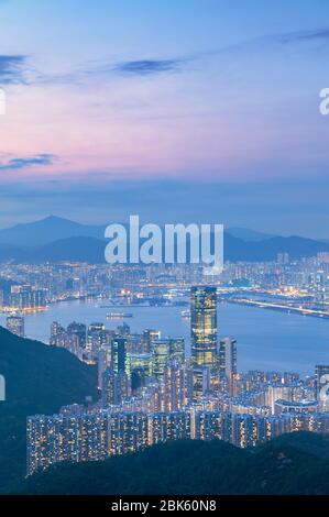
M 1 267 L 8 329 L 25 336 L 24 316 L 67 299 L 96 298 L 105 321 L 66 328 L 54 321 L 48 345 L 98 369 L 99 399 L 28 418 L 28 474 L 63 461 L 100 461 L 177 439 L 219 439 L 253 447 L 283 433 L 329 431 L 321 396 L 329 365 L 314 374 L 239 371 L 239 343 L 218 324 L 218 302 L 329 317 L 329 254 L 271 263 L 227 263 L 220 275 L 194 265 L 90 264 Z M 176 307 L 190 323 L 185 339 L 157 329 L 133 332 L 129 308 Z M 321 392 L 322 391 L 322 392 Z

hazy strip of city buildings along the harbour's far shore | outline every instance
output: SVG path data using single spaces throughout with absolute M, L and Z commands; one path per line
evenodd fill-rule
M 300 260 L 278 253 L 273 261 L 226 262 L 220 274 L 210 274 L 199 264 L 0 264 L 0 307 L 37 310 L 47 304 L 86 297 L 161 305 L 171 301 L 171 290 L 184 292 L 193 285 L 217 285 L 223 290 L 250 288 L 292 300 L 299 297 L 328 311 L 329 253 Z

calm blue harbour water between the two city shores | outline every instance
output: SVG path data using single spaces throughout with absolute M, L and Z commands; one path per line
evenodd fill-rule
M 120 320 L 107 320 L 109 309 L 101 305 L 100 301 L 64 301 L 44 312 L 29 314 L 25 316 L 26 337 L 47 343 L 52 321 L 63 326 L 72 321 L 86 324 L 101 321 L 114 329 Z M 128 310 L 133 315 L 127 319 L 133 332 L 149 328 L 161 330 L 163 337 L 182 336 L 188 352 L 189 321 L 182 318 L 182 308 L 130 306 Z M 6 323 L 4 315 L 0 316 L 0 323 Z M 329 363 L 328 320 L 222 302 L 218 307 L 218 326 L 220 337 L 232 336 L 238 340 L 240 371 L 311 374 L 316 364 Z

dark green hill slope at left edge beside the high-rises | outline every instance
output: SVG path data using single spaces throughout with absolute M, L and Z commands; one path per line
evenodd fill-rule
M 53 414 L 61 406 L 97 397 L 96 370 L 63 349 L 18 338 L 0 327 L 0 493 L 25 473 L 26 416 Z

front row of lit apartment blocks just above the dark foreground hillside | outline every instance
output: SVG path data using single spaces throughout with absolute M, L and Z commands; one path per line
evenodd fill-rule
M 28 475 L 63 461 L 102 461 L 168 440 L 223 440 L 245 448 L 300 430 L 329 432 L 328 414 L 254 416 L 195 407 L 172 413 L 89 413 L 64 408 L 59 415 L 28 418 Z

